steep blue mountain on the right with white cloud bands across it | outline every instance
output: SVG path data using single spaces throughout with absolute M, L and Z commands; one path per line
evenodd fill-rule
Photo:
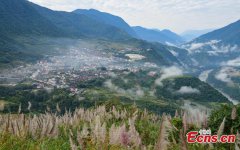
M 221 66 L 239 56 L 240 20 L 206 33 L 182 46 L 200 66 Z

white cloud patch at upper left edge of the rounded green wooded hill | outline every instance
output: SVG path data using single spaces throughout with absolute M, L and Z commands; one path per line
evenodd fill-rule
M 162 68 L 161 69 L 161 77 L 155 81 L 155 84 L 158 86 L 162 86 L 162 81 L 164 79 L 167 79 L 170 77 L 176 77 L 176 76 L 180 76 L 180 75 L 183 75 L 183 70 L 176 66 Z

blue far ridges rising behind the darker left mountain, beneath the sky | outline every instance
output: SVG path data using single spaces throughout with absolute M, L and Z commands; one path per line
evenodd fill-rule
M 159 42 L 162 44 L 179 45 L 184 43 L 183 38 L 170 30 L 165 29 L 160 31 L 157 29 L 147 29 L 140 26 L 130 27 L 130 25 L 128 25 L 121 17 L 114 16 L 112 14 L 101 12 L 95 9 L 77 9 L 73 11 L 73 13 L 86 15 L 101 23 L 117 27 L 127 32 L 134 38 L 139 38 L 149 42 Z

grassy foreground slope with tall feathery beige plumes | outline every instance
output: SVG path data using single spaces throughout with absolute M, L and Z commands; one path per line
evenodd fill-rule
M 29 108 L 29 111 L 31 109 Z M 222 112 L 219 114 L 218 112 Z M 21 113 L 21 110 L 19 111 Z M 45 114 L 0 115 L 0 149 L 237 149 L 240 144 L 240 107 L 223 105 L 207 117 L 177 112 L 158 116 L 134 106 L 112 102 L 91 109 L 76 109 L 59 116 Z M 224 119 L 223 119 L 224 118 Z M 219 128 L 220 127 L 220 128 Z M 232 144 L 187 144 L 186 133 L 202 128 L 212 134 L 237 134 Z M 231 130 L 229 130 L 231 129 Z

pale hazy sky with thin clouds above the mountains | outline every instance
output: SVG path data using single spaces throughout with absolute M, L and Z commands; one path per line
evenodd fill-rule
M 220 28 L 240 19 L 240 0 L 30 0 L 54 9 L 94 8 L 122 17 L 130 25 L 170 29 Z

